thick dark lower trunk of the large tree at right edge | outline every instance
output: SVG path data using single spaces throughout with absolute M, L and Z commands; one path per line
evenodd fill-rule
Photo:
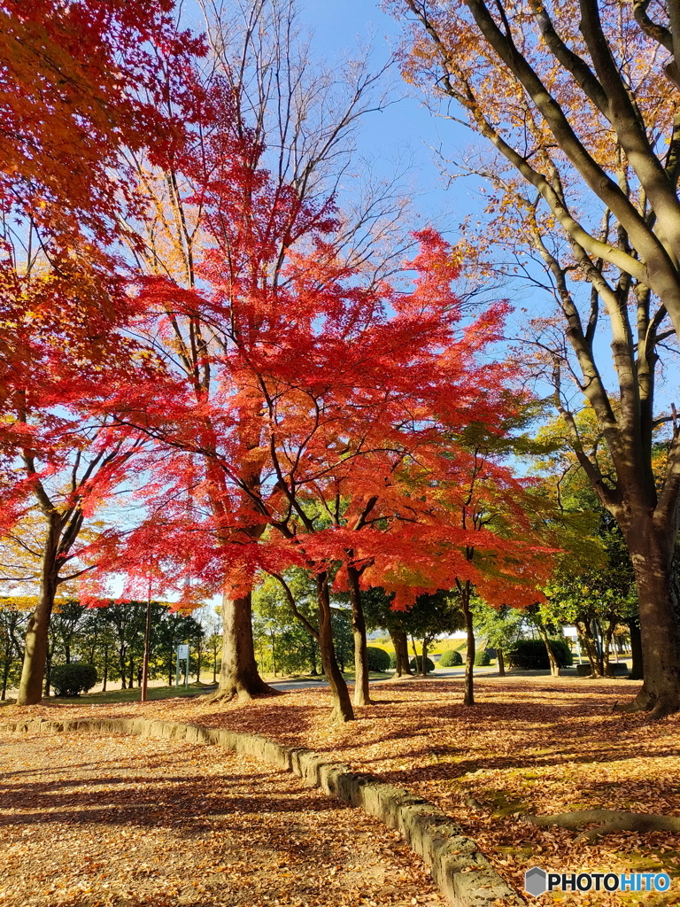
M 673 581 L 675 532 L 648 517 L 631 520 L 628 551 L 636 574 L 645 680 L 628 711 L 660 718 L 680 710 L 680 628 Z

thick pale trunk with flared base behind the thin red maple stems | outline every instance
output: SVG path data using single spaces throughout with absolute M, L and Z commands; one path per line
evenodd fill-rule
M 213 698 L 238 697 L 248 702 L 257 695 L 277 693 L 277 690 L 269 687 L 257 672 L 252 614 L 250 592 L 238 599 L 232 599 L 226 592 L 224 593 L 222 666 L 219 671 L 219 689 L 213 694 Z

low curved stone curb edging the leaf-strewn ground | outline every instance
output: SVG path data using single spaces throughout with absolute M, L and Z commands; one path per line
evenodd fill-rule
M 459 825 L 423 797 L 384 784 L 375 775 L 358 775 L 348 766 L 327 762 L 312 750 L 281 746 L 267 737 L 219 730 L 200 725 L 148 718 L 75 718 L 47 721 L 34 718 L 0 725 L 0 732 L 14 734 L 70 733 L 133 734 L 186 740 L 188 743 L 227 746 L 238 754 L 254 756 L 297 775 L 310 787 L 359 806 L 364 813 L 394 828 L 423 857 L 432 879 L 455 907 L 520 907 L 523 898 L 503 881 L 490 861 Z

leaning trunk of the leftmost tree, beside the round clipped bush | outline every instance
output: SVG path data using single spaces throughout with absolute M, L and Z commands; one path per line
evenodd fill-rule
M 48 631 L 57 590 L 57 573 L 53 566 L 57 541 L 58 527 L 54 522 L 45 542 L 38 602 L 26 629 L 24 665 L 19 682 L 19 694 L 16 697 L 18 706 L 34 706 L 43 698 Z

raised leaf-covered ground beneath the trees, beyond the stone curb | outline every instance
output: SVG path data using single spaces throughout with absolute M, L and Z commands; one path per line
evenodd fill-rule
M 573 832 L 539 829 L 518 815 L 597 807 L 680 815 L 680 717 L 650 723 L 644 715 L 612 713 L 636 688 L 626 680 L 487 676 L 477 681 L 478 704 L 464 708 L 461 680 L 386 681 L 372 686 L 376 704 L 358 709 L 358 720 L 344 726 L 328 724 L 325 689 L 242 706 L 202 699 L 145 707 L 51 702 L 6 707 L 0 720 L 55 717 L 55 709 L 69 717 L 128 717 L 143 709 L 149 717 L 308 746 L 441 805 L 520 892 L 524 871 L 534 864 L 555 872 L 665 869 L 673 884 L 661 895 L 569 892 L 563 901 L 651 907 L 680 903 L 680 836 L 622 833 L 584 844 Z M 491 810 L 468 808 L 471 796 Z M 547 894 L 532 903 L 556 901 L 558 895 Z

